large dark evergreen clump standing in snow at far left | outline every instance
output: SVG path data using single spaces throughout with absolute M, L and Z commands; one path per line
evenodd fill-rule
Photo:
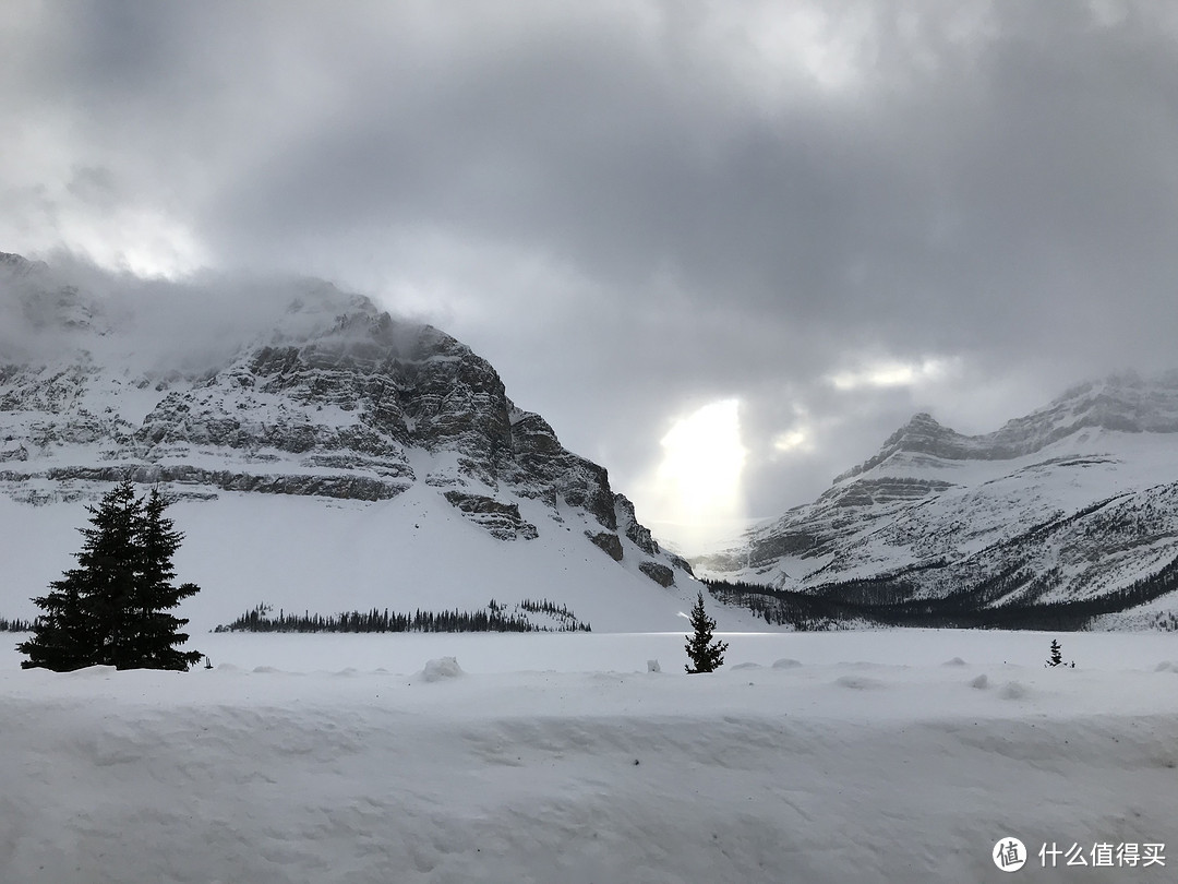
M 173 646 L 187 640 L 177 628 L 186 624 L 167 613 L 198 591 L 192 583 L 172 587 L 172 555 L 183 534 L 164 517 L 166 502 L 153 490 L 137 497 L 130 480 L 117 484 L 91 514 L 75 554 L 78 567 L 33 599 L 44 612 L 33 636 L 16 649 L 28 655 L 25 668 L 58 672 L 84 666 L 186 669 L 200 659 Z

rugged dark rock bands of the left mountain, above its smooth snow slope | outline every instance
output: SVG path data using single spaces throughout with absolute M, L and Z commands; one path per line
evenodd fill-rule
M 193 499 L 379 501 L 425 486 L 497 540 L 527 543 L 583 522 L 617 536 L 636 574 L 649 572 L 644 562 L 671 580 L 689 574 L 605 469 L 517 408 L 470 348 L 324 283 L 285 295 L 269 324 L 229 322 L 201 345 L 181 329 L 172 352 L 167 339 L 147 338 L 166 324 L 44 264 L 0 256 L 0 490 L 70 500 L 130 475 Z M 548 521 L 521 515 L 525 501 L 542 503 Z

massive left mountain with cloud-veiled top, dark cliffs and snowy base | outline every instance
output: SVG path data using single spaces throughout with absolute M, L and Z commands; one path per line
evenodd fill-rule
M 148 283 L 0 256 L 0 614 L 34 613 L 82 504 L 124 476 L 178 499 L 197 629 L 263 602 L 492 598 L 681 629 L 697 588 L 603 467 L 432 326 L 319 281 Z

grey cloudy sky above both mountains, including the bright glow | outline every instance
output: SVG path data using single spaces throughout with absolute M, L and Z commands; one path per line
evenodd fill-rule
M 1173 4 L 8 0 L 0 116 L 0 251 L 371 295 L 689 545 L 1178 367 Z

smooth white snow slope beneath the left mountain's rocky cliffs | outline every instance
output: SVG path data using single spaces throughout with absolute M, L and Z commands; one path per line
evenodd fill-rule
M 0 616 L 32 619 L 31 599 L 74 567 L 86 502 L 29 507 L 0 495 L 0 526 L 9 527 L 0 532 L 6 565 Z M 424 483 L 373 503 L 233 492 L 219 493 L 216 501 L 180 500 L 168 509 L 186 535 L 174 558 L 177 579 L 197 583 L 200 592 L 181 602 L 178 614 L 198 634 L 262 602 L 274 614 L 330 615 L 372 608 L 472 611 L 491 599 L 507 605 L 549 599 L 595 631 L 667 631 L 684 622 L 679 614 L 690 611 L 699 583 L 680 573 L 677 585 L 664 589 L 638 570 L 649 556 L 628 539 L 622 539 L 626 558 L 618 563 L 584 537 L 601 526 L 583 514 L 565 508 L 558 522 L 540 501 L 518 503 L 523 517 L 538 527 L 538 539 L 496 540 Z M 719 605 L 712 611 L 729 628 L 765 624 L 749 611 Z

